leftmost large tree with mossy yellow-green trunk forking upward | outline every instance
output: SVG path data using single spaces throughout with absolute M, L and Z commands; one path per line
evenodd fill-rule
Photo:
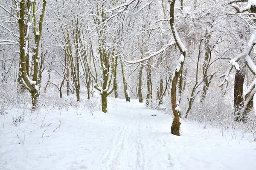
M 39 54 L 39 43 L 40 43 L 42 27 L 43 27 L 44 11 L 46 8 L 46 0 L 43 0 L 41 15 L 38 23 L 36 20 L 35 3 L 36 3 L 35 1 L 29 1 L 29 0 L 15 1 L 16 9 L 19 9 L 19 10 L 16 10 L 16 16 L 12 14 L 11 11 L 8 11 L 2 5 L 0 6 L 7 13 L 9 13 L 15 20 L 17 20 L 17 23 L 18 23 L 19 36 L 16 36 L 16 37 L 19 38 L 19 47 L 20 47 L 20 51 L 19 51 L 20 79 L 23 82 L 24 87 L 31 94 L 32 110 L 35 110 L 38 107 L 38 99 L 39 99 L 38 82 L 40 82 L 40 78 L 41 78 L 40 77 L 41 71 L 38 71 L 40 69 L 38 68 L 38 64 L 39 64 L 38 54 Z M 32 15 L 31 15 L 31 12 L 32 12 Z M 32 23 L 30 23 L 31 16 L 33 18 Z M 29 63 L 28 54 L 29 54 L 29 40 L 30 40 L 29 30 L 32 24 L 33 24 L 33 36 L 35 39 L 35 44 L 33 47 L 34 52 L 32 54 L 33 74 L 31 79 L 29 77 L 29 70 L 28 70 L 28 63 Z M 7 28 L 7 30 L 9 29 Z M 38 74 L 39 74 L 39 79 L 38 79 Z

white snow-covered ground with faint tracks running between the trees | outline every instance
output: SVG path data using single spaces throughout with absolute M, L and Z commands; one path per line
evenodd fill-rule
M 47 111 L 13 124 L 12 108 L 0 115 L 1 170 L 255 170 L 256 142 L 251 134 L 181 122 L 181 136 L 170 133 L 172 116 L 131 100 L 108 98 L 99 108 Z M 157 114 L 157 116 L 151 116 Z M 234 137 L 233 137 L 234 138 Z

